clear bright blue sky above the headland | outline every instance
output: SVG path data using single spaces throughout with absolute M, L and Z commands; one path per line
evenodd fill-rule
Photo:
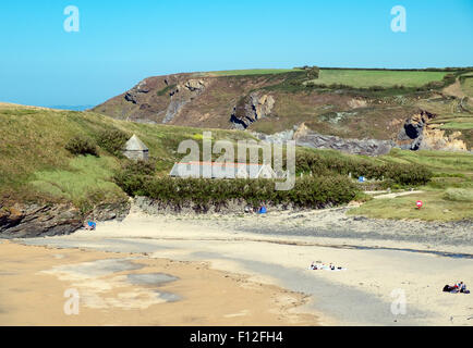
M 395 5 L 407 33 L 390 28 Z M 179 72 L 471 66 L 473 0 L 2 1 L 0 42 L 0 101 L 97 104 Z

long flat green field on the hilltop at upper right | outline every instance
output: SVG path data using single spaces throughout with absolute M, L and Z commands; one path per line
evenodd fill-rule
M 445 72 L 410 72 L 410 71 L 368 71 L 368 70 L 322 70 L 314 84 L 341 84 L 351 87 L 367 88 L 372 86 L 421 87 L 429 82 L 441 80 Z

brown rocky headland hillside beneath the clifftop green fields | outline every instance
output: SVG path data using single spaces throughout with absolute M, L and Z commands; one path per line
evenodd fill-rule
M 289 132 L 304 123 L 312 133 L 300 139 L 301 145 L 354 153 L 383 153 L 391 146 L 410 150 L 471 148 L 471 129 L 446 133 L 435 125 L 437 112 L 454 101 L 430 102 L 430 92 L 392 96 L 343 88 L 294 88 L 294 79 L 301 85 L 304 76 L 156 76 L 94 111 L 142 123 L 248 129 L 265 135 Z M 470 111 L 463 108 L 458 112 Z M 344 140 L 349 141 L 341 145 Z

